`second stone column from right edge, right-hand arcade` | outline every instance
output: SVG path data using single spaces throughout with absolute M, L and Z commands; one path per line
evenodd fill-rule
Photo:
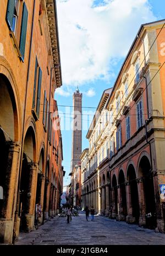
M 139 196 L 139 210 L 140 210 L 140 217 L 139 217 L 139 226 L 145 226 L 146 225 L 146 207 L 145 207 L 145 198 L 144 198 L 144 185 L 142 178 L 136 179 L 138 183 L 138 196 Z

